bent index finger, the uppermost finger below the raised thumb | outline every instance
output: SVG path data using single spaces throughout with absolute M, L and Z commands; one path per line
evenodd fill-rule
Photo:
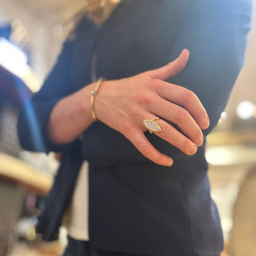
M 210 123 L 207 112 L 195 93 L 184 87 L 161 80 L 154 80 L 152 88 L 156 90 L 161 98 L 176 105 L 183 106 L 195 119 L 201 129 L 207 129 L 209 127 Z

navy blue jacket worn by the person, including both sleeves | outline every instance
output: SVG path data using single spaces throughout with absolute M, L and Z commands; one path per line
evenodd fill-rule
M 103 123 L 84 131 L 83 141 L 55 146 L 46 134 L 54 104 L 97 76 L 129 77 L 190 51 L 186 68 L 168 80 L 195 92 L 210 118 L 206 136 L 225 108 L 243 64 L 250 28 L 249 0 L 125 0 L 97 28 L 84 18 L 67 40 L 44 86 L 22 111 L 21 145 L 65 152 L 38 226 L 54 238 L 83 159 L 89 170 L 89 236 L 93 247 L 156 256 L 205 256 L 223 248 L 216 205 L 210 198 L 204 145 L 193 156 L 154 134 L 149 141 L 174 158 L 172 167 L 146 159 L 120 133 Z M 111 114 L 111 113 L 110 113 Z M 68 122 L 69 120 L 67 120 Z

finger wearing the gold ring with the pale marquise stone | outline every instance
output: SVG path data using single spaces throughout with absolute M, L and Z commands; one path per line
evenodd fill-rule
M 154 115 L 151 115 L 150 118 L 155 118 Z M 160 132 L 155 132 L 155 135 L 169 142 L 176 148 L 179 148 L 182 152 L 187 155 L 195 154 L 197 151 L 197 146 L 186 136 L 177 131 L 172 125 L 167 123 L 162 119 L 158 119 L 158 125 L 161 127 Z

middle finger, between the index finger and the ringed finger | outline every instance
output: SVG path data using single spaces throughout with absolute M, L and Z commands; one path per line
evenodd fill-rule
M 186 136 L 188 136 L 189 139 L 193 143 L 195 143 L 197 146 L 202 145 L 202 143 L 203 143 L 202 130 L 200 129 L 200 127 L 198 126 L 196 121 L 193 119 L 193 117 L 189 114 L 189 112 L 187 110 L 185 110 L 184 108 L 182 108 L 176 104 L 173 104 L 172 102 L 163 100 L 162 98 L 159 97 L 159 100 L 157 100 L 157 104 L 151 105 L 149 110 L 152 113 L 154 113 L 156 116 L 162 117 L 163 119 L 170 121 L 171 123 L 175 123 L 181 129 L 181 131 Z M 176 130 L 174 127 L 172 127 L 172 129 Z M 163 133 L 165 133 L 165 131 Z M 168 133 L 173 134 L 173 131 L 171 131 L 169 128 Z M 179 133 L 179 134 L 181 134 L 181 133 Z M 185 141 L 187 142 L 187 140 L 188 139 L 186 138 Z M 183 138 L 183 142 L 184 142 L 184 138 Z M 186 148 L 184 150 L 187 150 L 187 149 L 188 148 Z M 182 150 L 181 148 L 180 148 L 180 150 L 184 152 L 184 150 Z M 189 152 L 189 151 L 190 151 L 190 148 L 188 151 L 186 151 L 184 153 L 187 154 L 187 152 Z

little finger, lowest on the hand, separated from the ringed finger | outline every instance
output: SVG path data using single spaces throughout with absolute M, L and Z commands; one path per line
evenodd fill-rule
M 134 129 L 134 131 L 129 134 L 127 139 L 133 143 L 141 154 L 154 163 L 164 166 L 172 166 L 172 158 L 160 153 L 156 148 L 154 148 L 140 129 Z

